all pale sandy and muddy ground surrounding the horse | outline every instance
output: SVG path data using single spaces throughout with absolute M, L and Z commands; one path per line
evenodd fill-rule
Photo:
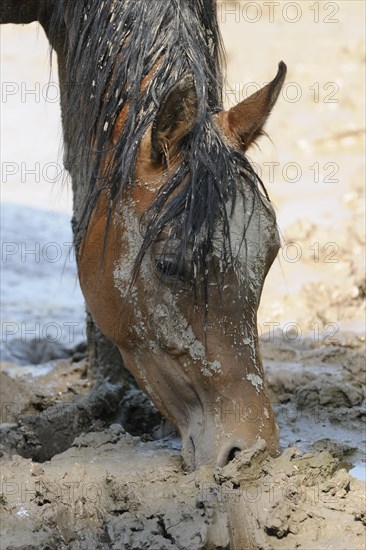
M 140 392 L 94 387 L 82 331 L 57 346 L 9 334 L 22 321 L 80 328 L 83 314 L 64 248 L 54 264 L 22 262 L 22 243 L 68 242 L 71 207 L 64 178 L 44 172 L 61 158 L 58 104 L 42 99 L 47 45 L 34 26 L 8 26 L 2 82 L 17 88 L 4 101 L 2 85 L 2 227 L 20 248 L 2 255 L 1 548 L 229 548 L 244 523 L 254 548 L 365 548 L 365 4 L 219 7 L 228 106 L 281 59 L 289 68 L 271 140 L 251 151 L 283 236 L 259 327 L 284 451 L 269 459 L 259 442 L 222 470 L 185 473 L 179 440 Z M 38 82 L 40 101 L 22 101 Z M 39 177 L 23 174 L 37 162 Z

